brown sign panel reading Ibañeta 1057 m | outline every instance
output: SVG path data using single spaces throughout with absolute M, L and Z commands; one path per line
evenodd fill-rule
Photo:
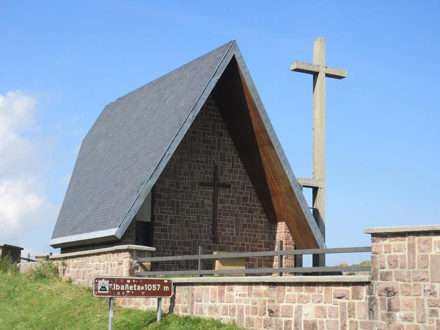
M 95 276 L 93 295 L 95 297 L 170 298 L 173 295 L 173 281 L 147 277 Z

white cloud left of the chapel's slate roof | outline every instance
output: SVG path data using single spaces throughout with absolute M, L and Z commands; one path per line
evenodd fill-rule
M 32 233 L 54 223 L 58 207 L 45 196 L 51 150 L 38 132 L 36 105 L 21 91 L 0 94 L 0 242 L 40 247 L 48 238 Z

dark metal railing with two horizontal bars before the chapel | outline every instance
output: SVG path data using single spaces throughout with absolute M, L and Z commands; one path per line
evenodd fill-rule
M 283 273 L 330 273 L 342 271 L 371 271 L 371 266 L 318 266 L 318 267 L 283 267 L 283 256 L 303 256 L 305 254 L 330 254 L 330 253 L 356 253 L 371 252 L 371 246 L 361 247 L 339 247 L 326 249 L 304 249 L 304 250 L 283 250 L 282 241 L 278 242 L 278 250 L 262 252 L 226 253 L 226 254 L 203 254 L 203 247 L 198 247 L 197 255 L 182 255 L 172 257 L 146 257 L 137 258 L 142 271 L 137 271 L 136 276 L 168 276 L 168 275 L 226 275 L 226 274 L 264 274 L 276 273 L 283 276 Z M 251 269 L 203 269 L 203 261 L 218 260 L 228 258 L 258 258 L 258 257 L 278 257 L 278 267 L 273 268 L 251 268 Z M 197 260 L 197 269 L 194 270 L 151 270 L 149 271 L 143 263 L 168 262 Z

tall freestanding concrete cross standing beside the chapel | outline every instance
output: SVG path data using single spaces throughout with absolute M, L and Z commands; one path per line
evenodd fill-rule
M 313 217 L 325 240 L 326 177 L 326 77 L 343 79 L 347 71 L 326 66 L 326 40 L 313 41 L 313 64 L 294 62 L 290 71 L 313 75 L 313 174 L 311 179 L 298 178 L 302 187 L 312 188 Z M 324 266 L 325 255 L 314 255 L 313 265 Z

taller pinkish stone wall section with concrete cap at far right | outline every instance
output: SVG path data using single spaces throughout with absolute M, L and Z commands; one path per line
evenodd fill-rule
M 364 232 L 372 235 L 371 325 L 440 329 L 440 225 Z

